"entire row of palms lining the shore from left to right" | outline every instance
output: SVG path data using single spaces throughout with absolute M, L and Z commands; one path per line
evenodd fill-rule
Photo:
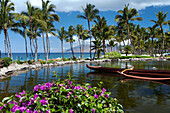
M 166 21 L 167 13 L 162 11 L 156 14 L 157 20 L 151 20 L 155 25 L 152 27 L 141 27 L 135 25 L 132 21 L 142 21 L 139 13 L 134 8 L 129 8 L 125 5 L 123 10 L 119 10 L 115 16 L 117 25 L 107 25 L 105 17 L 99 16 L 99 10 L 95 5 L 86 4 L 83 8 L 84 15 L 77 15 L 77 18 L 87 20 L 88 29 L 83 25 L 69 26 L 68 30 L 64 27 L 55 29 L 54 22 L 59 22 L 60 18 L 55 12 L 56 6 L 50 4 L 50 1 L 42 0 L 42 7 L 37 8 L 26 2 L 27 11 L 21 13 L 12 13 L 15 10 L 14 3 L 10 0 L 0 0 L 0 28 L 4 32 L 5 55 L 12 58 L 11 43 L 8 34 L 8 29 L 19 33 L 25 39 L 25 50 L 28 60 L 27 39 L 30 42 L 30 50 L 32 55 L 37 60 L 38 43 L 37 37 L 43 38 L 43 47 L 46 60 L 50 54 L 50 39 L 49 34 L 58 37 L 61 40 L 62 58 L 64 40 L 70 43 L 72 55 L 74 56 L 73 43 L 74 36 L 77 35 L 80 47 L 81 58 L 83 58 L 85 40 L 90 38 L 90 59 L 99 58 L 101 53 L 106 53 L 108 48 L 117 45 L 119 51 L 124 53 L 132 50 L 133 54 L 163 54 L 170 48 L 170 31 L 163 28 L 163 25 L 169 25 L 170 20 Z M 93 25 L 91 23 L 93 22 Z M 56 32 L 57 31 L 57 32 Z M 92 38 L 94 39 L 92 41 Z M 126 42 L 128 42 L 126 44 Z M 94 56 L 92 56 L 92 51 Z

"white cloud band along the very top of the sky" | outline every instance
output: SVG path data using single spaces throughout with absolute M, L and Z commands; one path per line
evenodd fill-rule
M 12 0 L 16 5 L 16 11 L 20 12 L 26 10 L 27 0 Z M 29 0 L 33 6 L 41 7 L 41 0 Z M 125 4 L 130 4 L 130 7 L 138 10 L 145 9 L 148 6 L 162 6 L 170 5 L 170 0 L 50 0 L 56 5 L 56 11 L 82 11 L 82 6 L 85 7 L 87 3 L 94 4 L 100 11 L 122 9 Z

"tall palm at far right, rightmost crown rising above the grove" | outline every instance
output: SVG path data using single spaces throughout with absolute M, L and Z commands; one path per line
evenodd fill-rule
M 150 20 L 155 23 L 155 27 L 159 26 L 161 28 L 161 33 L 162 33 L 162 51 L 161 51 L 161 56 L 163 55 L 163 50 L 164 50 L 164 45 L 165 45 L 165 37 L 164 37 L 164 31 L 163 31 L 163 25 L 168 24 L 169 21 L 165 21 L 167 17 L 168 12 L 165 14 L 163 11 L 159 11 L 158 14 L 156 14 L 157 21 L 156 20 Z

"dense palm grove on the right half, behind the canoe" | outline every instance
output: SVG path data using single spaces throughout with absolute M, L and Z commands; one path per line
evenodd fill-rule
M 77 17 L 87 20 L 90 39 L 91 35 L 95 39 L 95 41 L 90 41 L 94 43 L 93 46 L 90 44 L 90 48 L 93 47 L 91 50 L 95 50 L 98 57 L 101 52 L 105 54 L 106 46 L 112 48 L 117 44 L 121 53 L 125 53 L 128 49 L 138 55 L 150 54 L 153 56 L 154 53 L 163 55 L 164 52 L 170 50 L 170 33 L 169 30 L 163 29 L 163 25 L 169 25 L 170 28 L 170 20 L 166 21 L 167 12 L 165 14 L 163 11 L 158 12 L 157 20 L 150 20 L 155 25 L 145 28 L 132 23 L 132 21 L 142 21 L 143 18 L 139 17 L 135 8 L 129 8 L 129 4 L 117 12 L 118 15 L 115 16 L 117 25 L 108 26 L 106 19 L 97 15 L 99 11 L 95 9 L 94 5 L 87 4 L 83 11 L 85 15 Z M 90 27 L 92 20 L 95 25 Z M 107 45 L 106 41 L 108 41 Z M 125 41 L 128 41 L 128 44 L 125 44 Z

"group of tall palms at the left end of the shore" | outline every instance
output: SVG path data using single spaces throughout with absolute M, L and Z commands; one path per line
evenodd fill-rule
M 42 0 L 42 8 L 37 8 L 31 5 L 29 1 L 26 2 L 27 11 L 21 13 L 11 13 L 14 11 L 14 3 L 10 0 L 0 1 L 0 24 L 1 30 L 4 31 L 4 45 L 5 55 L 12 58 L 11 44 L 9 40 L 8 29 L 17 32 L 25 39 L 26 55 L 28 60 L 28 49 L 27 49 L 27 37 L 30 40 L 30 49 L 35 61 L 37 60 L 38 43 L 37 37 L 43 37 L 44 53 L 46 59 L 49 58 L 50 53 L 50 41 L 49 34 L 55 36 L 55 28 L 53 22 L 59 22 L 60 18 L 55 14 L 56 6 L 50 4 L 50 1 L 46 2 Z M 45 36 L 44 36 L 45 35 Z M 46 41 L 45 41 L 46 37 Z

